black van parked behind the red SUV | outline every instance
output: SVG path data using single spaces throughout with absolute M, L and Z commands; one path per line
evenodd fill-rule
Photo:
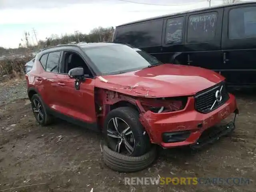
M 256 86 L 256 2 L 123 24 L 112 41 L 140 48 L 164 63 L 217 71 L 233 86 Z

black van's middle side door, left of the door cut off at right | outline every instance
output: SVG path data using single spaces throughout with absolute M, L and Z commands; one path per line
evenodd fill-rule
M 223 8 L 191 12 L 186 16 L 186 64 L 222 69 L 221 32 Z

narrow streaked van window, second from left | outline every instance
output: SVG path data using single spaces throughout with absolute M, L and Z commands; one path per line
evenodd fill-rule
M 166 22 L 165 44 L 181 44 L 184 17 L 171 18 Z

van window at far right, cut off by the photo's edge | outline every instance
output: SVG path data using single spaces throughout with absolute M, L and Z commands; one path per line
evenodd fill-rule
M 256 38 L 256 7 L 230 10 L 228 22 L 230 39 Z

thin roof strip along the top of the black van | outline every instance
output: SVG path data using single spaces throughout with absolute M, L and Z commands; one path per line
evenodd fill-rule
M 188 11 L 184 11 L 184 12 L 161 15 L 161 16 L 156 16 L 156 17 L 151 17 L 151 18 L 147 18 L 147 19 L 142 19 L 142 20 L 137 20 L 137 21 L 125 23 L 125 24 L 122 24 L 122 25 L 118 25 L 116 27 L 121 27 L 121 26 L 126 26 L 126 25 L 130 25 L 130 24 L 136 24 L 136 23 L 146 22 L 146 21 L 151 21 L 151 20 L 157 20 L 157 19 L 162 19 L 162 18 L 166 18 L 166 17 L 170 17 L 170 16 L 186 14 L 186 13 L 191 13 L 191 12 L 199 12 L 199 11 L 212 10 L 212 9 L 216 9 L 216 8 L 224 8 L 224 7 L 229 7 L 229 6 L 239 5 L 239 4 L 252 4 L 252 3 L 256 3 L 256 1 L 239 2 L 239 3 L 232 3 L 232 4 L 222 4 L 222 5 L 218 5 L 218 6 L 211 6 L 211 7 L 206 7 L 206 8 L 188 10 Z

